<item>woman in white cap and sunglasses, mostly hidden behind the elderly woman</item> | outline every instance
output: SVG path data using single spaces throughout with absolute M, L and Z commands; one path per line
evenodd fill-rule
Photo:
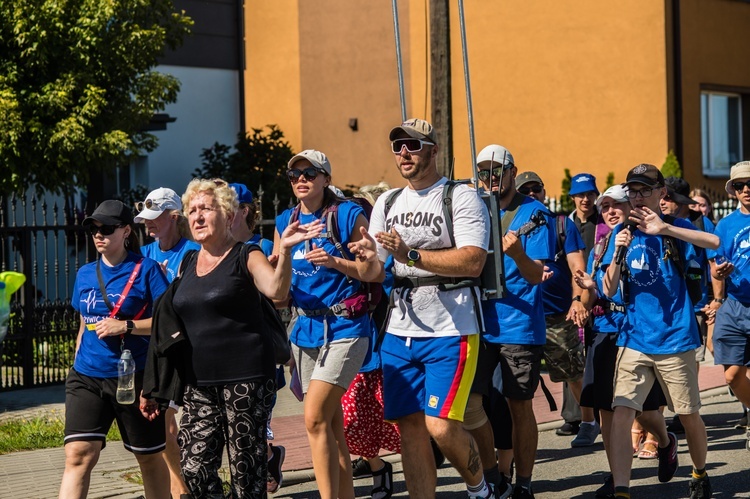
M 141 253 L 156 260 L 164 270 L 167 280 L 174 281 L 185 253 L 200 249 L 200 246 L 192 241 L 187 218 L 182 214 L 180 196 L 172 189 L 159 187 L 151 191 L 145 201 L 137 203 L 136 209 L 139 213 L 135 217 L 135 223 L 145 224 L 146 233 L 155 239 L 154 242 L 143 246 Z M 177 445 L 178 428 L 175 421 L 178 409 L 172 403 L 165 414 L 167 448 L 164 460 L 169 468 L 169 483 L 173 497 L 188 493 L 180 472 L 180 448 Z

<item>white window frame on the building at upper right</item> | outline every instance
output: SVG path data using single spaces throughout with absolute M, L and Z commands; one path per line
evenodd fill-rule
M 727 98 L 735 98 L 738 101 L 737 106 L 737 158 L 729 158 L 724 163 L 717 163 L 716 161 L 716 154 L 713 153 L 716 149 L 726 147 L 727 146 L 727 139 L 726 134 L 724 134 L 724 137 L 721 137 L 722 140 L 719 140 L 718 132 L 716 132 L 715 127 L 719 126 L 716 124 L 713 124 L 710 120 L 711 114 L 712 114 L 712 106 L 715 105 L 712 103 L 712 97 L 727 97 Z M 701 92 L 701 101 L 700 101 L 700 113 L 701 113 L 701 165 L 703 169 L 703 175 L 706 177 L 728 177 L 729 176 L 729 170 L 732 166 L 732 164 L 742 161 L 742 158 L 744 157 L 744 152 L 742 150 L 742 137 L 743 137 L 743 130 L 742 130 L 742 95 L 738 93 L 733 92 L 717 92 L 717 91 L 702 91 Z M 726 125 L 726 124 L 723 124 Z M 714 133 L 715 132 L 715 133 Z M 722 144 L 721 142 L 724 142 Z M 723 151 L 725 153 L 728 153 L 728 151 Z M 728 156 L 728 154 L 724 154 L 724 156 Z

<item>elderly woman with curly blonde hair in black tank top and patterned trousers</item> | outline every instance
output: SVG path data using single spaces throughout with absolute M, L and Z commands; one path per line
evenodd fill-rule
M 274 269 L 257 246 L 232 237 L 238 202 L 226 182 L 195 179 L 182 204 L 201 246 L 186 259 L 172 299 L 192 347 L 194 378 L 184 392 L 178 436 L 183 477 L 195 498 L 224 497 L 218 471 L 226 445 L 232 497 L 265 497 L 275 366 L 259 293 L 287 296 L 291 248 L 319 235 L 322 225 L 290 224 Z

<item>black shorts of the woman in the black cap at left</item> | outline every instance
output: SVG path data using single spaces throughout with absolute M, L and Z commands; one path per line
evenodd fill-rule
M 143 372 L 136 373 L 136 393 L 143 387 Z M 92 378 L 71 369 L 65 381 L 65 443 L 102 442 L 117 420 L 125 449 L 134 454 L 154 454 L 164 450 L 164 413 L 153 421 L 143 417 L 139 402 L 118 404 L 117 378 Z

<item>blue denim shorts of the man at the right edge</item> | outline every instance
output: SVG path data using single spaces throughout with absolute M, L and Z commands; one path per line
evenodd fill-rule
M 750 306 L 732 298 L 716 311 L 714 364 L 750 365 Z

